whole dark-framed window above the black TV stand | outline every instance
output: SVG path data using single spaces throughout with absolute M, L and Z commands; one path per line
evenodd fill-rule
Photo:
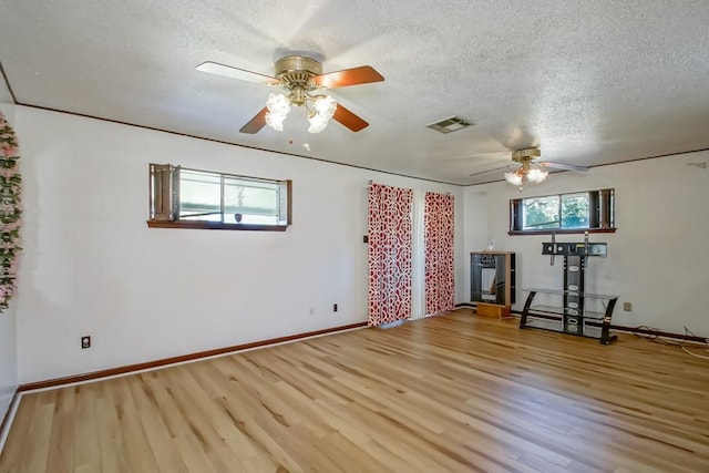
M 510 234 L 615 232 L 614 189 L 510 200 Z

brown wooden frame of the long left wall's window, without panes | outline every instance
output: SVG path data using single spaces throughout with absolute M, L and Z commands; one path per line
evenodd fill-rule
M 219 178 L 222 199 L 219 203 L 220 214 L 224 218 L 224 186 L 226 179 L 242 179 L 250 182 L 261 182 L 284 186 L 286 189 L 286 224 L 244 224 L 212 220 L 194 220 L 179 218 L 179 171 L 205 173 Z M 177 178 L 177 183 L 175 179 Z M 210 230 L 256 230 L 256 232 L 286 232 L 292 225 L 292 181 L 291 179 L 269 179 L 264 177 L 244 176 L 217 171 L 205 171 L 193 167 L 175 166 L 173 164 L 148 165 L 148 228 L 186 228 L 186 229 L 210 229 Z M 282 192 L 278 193 L 282 200 Z

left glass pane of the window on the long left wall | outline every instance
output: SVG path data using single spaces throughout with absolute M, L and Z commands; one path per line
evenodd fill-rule
M 179 171 L 179 218 L 222 222 L 222 182 L 214 173 Z

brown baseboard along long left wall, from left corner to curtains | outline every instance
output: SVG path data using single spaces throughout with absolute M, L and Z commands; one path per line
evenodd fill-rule
M 351 323 L 351 325 L 348 325 L 348 326 L 332 327 L 332 328 L 329 328 L 329 329 L 316 330 L 316 331 L 310 331 L 310 332 L 306 332 L 306 333 L 298 333 L 298 335 L 291 335 L 291 336 L 287 336 L 287 337 L 273 338 L 273 339 L 269 339 L 269 340 L 253 341 L 253 342 L 249 342 L 249 343 L 236 345 L 236 346 L 233 346 L 233 347 L 224 347 L 224 348 L 217 348 L 217 349 L 214 349 L 214 350 L 199 351 L 199 352 L 196 352 L 196 353 L 182 354 L 182 356 L 178 356 L 178 357 L 163 358 L 161 360 L 147 361 L 147 362 L 144 362 L 144 363 L 135 363 L 135 364 L 129 364 L 129 366 L 125 366 L 125 367 L 110 368 L 107 370 L 100 370 L 100 371 L 94 371 L 94 372 L 84 373 L 84 374 L 75 374 L 75 376 L 65 377 L 65 378 L 55 378 L 55 379 L 50 379 L 50 380 L 45 380 L 45 381 L 37 381 L 37 382 L 27 383 L 27 384 L 20 384 L 20 387 L 18 388 L 17 392 L 21 393 L 21 392 L 25 392 L 25 391 L 34 391 L 34 390 L 38 390 L 38 389 L 56 388 L 56 387 L 64 385 L 64 384 L 72 384 L 72 383 L 78 383 L 78 382 L 97 380 L 97 379 L 101 379 L 101 378 L 110 378 L 110 377 L 130 374 L 130 373 L 137 372 L 137 371 L 145 371 L 145 370 L 166 367 L 168 364 L 176 364 L 176 363 L 184 363 L 184 362 L 188 362 L 188 361 L 196 361 L 196 360 L 199 360 L 199 359 L 203 359 L 203 358 L 217 357 L 217 356 L 233 353 L 233 352 L 237 352 L 237 351 L 267 347 L 269 345 L 286 343 L 286 342 L 289 342 L 289 341 L 296 341 L 296 340 L 301 340 L 301 339 L 305 339 L 305 338 L 318 337 L 318 336 L 321 336 L 321 335 L 335 333 L 335 332 L 339 332 L 339 331 L 352 330 L 352 329 L 358 329 L 358 328 L 363 328 L 363 327 L 367 327 L 367 322 L 357 322 L 357 323 Z M 17 393 L 16 393 L 16 395 L 17 395 Z

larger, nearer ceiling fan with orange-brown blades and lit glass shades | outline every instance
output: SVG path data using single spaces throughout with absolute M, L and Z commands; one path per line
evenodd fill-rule
M 264 83 L 282 89 L 286 95 L 269 94 L 266 106 L 246 123 L 239 132 L 258 133 L 264 126 L 282 130 L 282 122 L 290 106 L 304 106 L 310 126 L 308 132 L 319 133 L 330 119 L 341 123 L 353 132 L 369 126 L 364 120 L 347 110 L 336 100 L 320 93 L 325 89 L 381 82 L 384 78 L 370 65 L 322 73 L 320 61 L 306 55 L 287 55 L 276 61 L 275 76 L 259 74 L 230 65 L 207 61 L 196 68 L 198 71 L 249 82 Z

